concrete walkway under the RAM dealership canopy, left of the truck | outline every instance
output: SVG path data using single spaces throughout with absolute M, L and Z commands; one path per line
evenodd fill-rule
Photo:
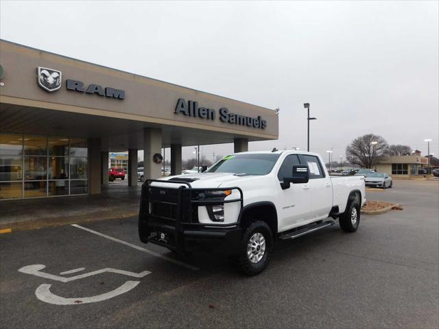
M 116 181 L 101 195 L 0 202 L 0 230 L 30 230 L 69 223 L 126 218 L 139 213 L 141 185 Z

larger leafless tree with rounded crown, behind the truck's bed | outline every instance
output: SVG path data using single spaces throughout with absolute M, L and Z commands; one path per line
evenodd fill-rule
M 346 160 L 364 168 L 372 168 L 388 151 L 388 143 L 381 136 L 366 134 L 355 138 L 346 147 Z

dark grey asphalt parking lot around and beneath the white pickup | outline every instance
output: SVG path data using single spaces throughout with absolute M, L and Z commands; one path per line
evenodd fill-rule
M 0 326 L 438 328 L 439 182 L 366 197 L 403 210 L 276 243 L 252 278 L 223 256 L 144 245 L 134 217 L 1 234 Z

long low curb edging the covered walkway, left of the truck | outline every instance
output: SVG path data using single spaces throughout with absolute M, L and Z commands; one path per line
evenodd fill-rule
M 56 226 L 64 226 L 71 224 L 80 224 L 80 223 L 91 223 L 93 221 L 105 221 L 108 219 L 126 219 L 128 217 L 133 217 L 139 215 L 139 212 L 126 212 L 117 215 L 108 215 L 97 217 L 95 214 L 91 214 L 90 217 L 67 217 L 67 218 L 51 218 L 50 221 L 47 219 L 37 220 L 37 221 L 21 221 L 19 223 L 8 223 L 5 224 L 4 227 L 0 226 L 1 233 L 10 233 L 16 231 L 25 231 L 25 230 L 39 230 L 40 228 L 54 228 Z

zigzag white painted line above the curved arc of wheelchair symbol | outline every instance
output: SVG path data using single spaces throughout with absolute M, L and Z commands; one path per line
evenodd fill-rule
M 33 276 L 39 276 L 40 278 L 46 278 L 50 280 L 60 281 L 60 282 L 71 282 L 73 280 L 78 280 L 82 278 L 86 278 L 88 276 L 95 276 L 99 273 L 105 273 L 105 272 L 111 272 L 111 273 L 118 273 L 123 274 L 124 276 L 133 276 L 134 278 L 143 278 L 144 276 L 147 276 L 150 274 L 150 271 L 143 271 L 140 273 L 134 273 L 130 271 L 123 271 L 123 269 L 112 269 L 111 267 L 106 267 L 105 269 L 98 269 L 97 271 L 88 272 L 80 274 L 79 276 L 71 276 L 70 278 L 63 278 L 62 276 L 55 276 L 54 274 L 49 274 L 42 272 L 42 269 L 45 269 L 46 265 L 42 264 L 36 264 L 36 265 L 27 265 L 25 267 L 21 267 L 19 269 L 19 272 L 26 273 L 26 274 L 32 274 Z

